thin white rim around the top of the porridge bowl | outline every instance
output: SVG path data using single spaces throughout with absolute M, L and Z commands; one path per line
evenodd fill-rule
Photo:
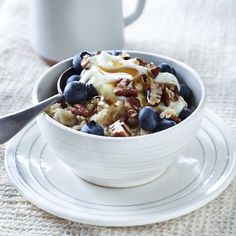
M 113 50 L 103 50 L 103 51 L 113 51 Z M 198 81 L 200 88 L 201 88 L 201 92 L 202 92 L 202 96 L 200 98 L 200 102 L 198 103 L 196 109 L 193 111 L 193 113 L 187 117 L 185 120 L 181 121 L 179 124 L 170 127 L 168 129 L 159 131 L 159 132 L 155 132 L 155 133 L 151 133 L 151 134 L 146 134 L 146 135 L 138 135 L 138 136 L 130 136 L 130 137 L 111 137 L 111 136 L 100 136 L 100 135 L 94 135 L 94 134 L 87 134 L 87 133 L 83 133 L 81 131 L 78 130 L 74 130 L 71 127 L 67 127 L 61 123 L 59 123 L 58 121 L 54 120 L 52 117 L 50 117 L 49 115 L 47 115 L 45 112 L 43 112 L 45 119 L 47 119 L 50 123 L 52 123 L 54 126 L 63 129 L 65 132 L 69 132 L 72 134 L 76 134 L 85 138 L 92 138 L 92 139 L 100 139 L 100 140 L 110 140 L 110 141 L 119 141 L 119 140 L 135 140 L 135 139 L 143 139 L 143 138 L 147 138 L 147 137 L 153 137 L 153 136 L 161 136 L 163 134 L 167 134 L 168 132 L 174 132 L 176 129 L 180 129 L 182 126 L 184 126 L 186 123 L 191 122 L 191 120 L 194 119 L 195 116 L 197 116 L 205 107 L 205 103 L 206 103 L 206 88 L 203 84 L 203 81 L 200 77 L 200 75 L 189 65 L 185 64 L 184 62 L 181 62 L 175 58 L 172 57 L 168 57 L 168 56 L 164 56 L 161 54 L 157 54 L 157 53 L 151 53 L 151 52 L 144 52 L 144 51 L 136 51 L 136 50 L 122 50 L 125 51 L 127 53 L 136 53 L 136 54 L 140 54 L 140 55 L 148 55 L 148 56 L 152 56 L 152 57 L 159 57 L 162 58 L 164 60 L 167 61 L 171 61 L 174 64 L 178 64 L 181 67 L 185 68 L 186 70 L 188 70 L 191 74 L 194 75 L 194 77 L 196 78 L 196 80 Z M 37 91 L 40 85 L 40 82 L 45 78 L 45 76 L 47 76 L 48 73 L 50 73 L 52 70 L 54 70 L 55 68 L 59 67 L 62 64 L 65 64 L 69 61 L 71 61 L 73 59 L 73 57 L 67 58 L 65 60 L 62 60 L 58 63 L 56 63 L 55 65 L 53 65 L 52 67 L 50 67 L 46 72 L 44 72 L 42 74 L 42 76 L 37 80 L 34 88 L 33 88 L 33 93 L 32 93 L 32 97 L 33 97 L 33 103 L 37 104 L 38 101 L 38 96 L 37 96 Z

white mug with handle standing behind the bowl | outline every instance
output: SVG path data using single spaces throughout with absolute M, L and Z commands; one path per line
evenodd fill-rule
M 50 61 L 61 61 L 79 51 L 121 49 L 124 26 L 144 8 L 123 18 L 121 0 L 31 0 L 33 49 Z

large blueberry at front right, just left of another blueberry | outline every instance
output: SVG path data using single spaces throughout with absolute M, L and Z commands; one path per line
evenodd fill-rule
M 147 131 L 152 131 L 158 124 L 157 113 L 152 107 L 143 107 L 139 112 L 139 126 Z

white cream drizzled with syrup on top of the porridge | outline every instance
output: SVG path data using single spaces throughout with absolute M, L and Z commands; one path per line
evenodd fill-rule
M 139 65 L 136 59 L 124 60 L 122 56 L 113 56 L 106 52 L 101 52 L 101 54 L 90 57 L 89 64 L 90 68 L 83 70 L 80 82 L 93 84 L 105 100 L 109 99 L 113 102 L 125 99 L 124 97 L 117 97 L 114 94 L 115 81 L 121 78 L 133 80 L 140 74 L 148 74 L 150 72 L 149 68 Z M 178 90 L 180 90 L 177 78 L 171 73 L 159 73 L 154 81 L 176 85 Z M 158 110 L 160 109 L 165 112 L 174 110 L 178 115 L 184 107 L 187 107 L 187 103 L 179 96 L 178 101 L 170 102 L 168 107 L 163 103 L 159 104 Z

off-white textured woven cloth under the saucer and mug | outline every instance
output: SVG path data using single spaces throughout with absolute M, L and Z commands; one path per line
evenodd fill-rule
M 30 105 L 34 83 L 48 69 L 30 45 L 28 5 L 3 0 L 0 6 L 0 115 Z M 198 71 L 207 106 L 236 134 L 236 1 L 148 0 L 125 36 L 127 49 L 171 56 Z M 1 235 L 236 235 L 235 180 L 217 199 L 177 219 L 139 227 L 88 226 L 54 217 L 25 200 L 6 175 L 4 150 L 1 145 Z

